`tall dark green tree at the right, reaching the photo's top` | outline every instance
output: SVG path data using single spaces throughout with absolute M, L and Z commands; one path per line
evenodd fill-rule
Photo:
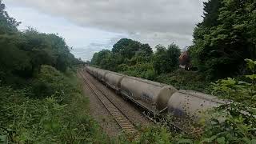
M 242 71 L 243 59 L 256 58 L 255 6 L 253 0 L 206 2 L 190 48 L 194 66 L 210 78 L 223 78 Z

